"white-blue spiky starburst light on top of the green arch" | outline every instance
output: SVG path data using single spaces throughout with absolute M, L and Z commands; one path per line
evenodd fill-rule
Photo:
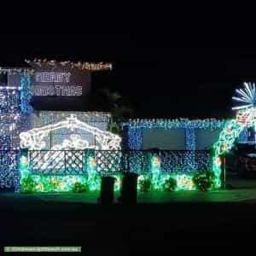
M 256 94 L 254 83 L 244 83 L 244 89 L 236 89 L 237 97 L 232 97 L 236 102 L 242 102 L 243 105 L 233 107 L 233 110 L 253 108 L 256 106 Z

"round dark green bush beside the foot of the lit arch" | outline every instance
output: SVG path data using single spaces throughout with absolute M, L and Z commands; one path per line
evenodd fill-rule
M 198 172 L 193 177 L 193 182 L 196 189 L 202 191 L 207 191 L 212 189 L 214 183 L 214 173 L 213 172 Z

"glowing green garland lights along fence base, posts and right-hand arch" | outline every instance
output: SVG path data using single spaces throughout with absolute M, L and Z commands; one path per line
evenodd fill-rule
M 213 145 L 212 153 L 212 170 L 201 172 L 190 172 L 184 174 L 182 171 L 178 173 L 166 174 L 161 171 L 161 159 L 157 154 L 153 154 L 149 160 L 149 172 L 138 177 L 137 189 L 139 191 L 168 190 L 195 190 L 200 187 L 208 189 L 218 189 L 221 186 L 221 156 L 230 151 L 236 138 L 239 137 L 241 131 L 247 126 L 253 124 L 255 116 L 254 108 L 239 110 L 236 119 L 227 121 L 224 130 L 220 132 L 218 142 Z M 99 190 L 101 187 L 101 177 L 96 172 L 96 158 L 93 150 L 86 155 L 85 175 L 67 175 L 67 176 L 45 176 L 34 175 L 29 170 L 29 160 L 27 151 L 21 152 L 20 155 L 20 187 L 21 191 L 32 192 L 62 192 L 73 191 L 74 184 L 80 183 L 87 185 L 90 191 Z M 192 170 L 193 171 L 193 170 Z M 213 172 L 213 176 L 207 176 L 207 172 Z M 115 175 L 114 190 L 119 191 L 121 186 L 121 175 Z M 210 182 L 207 178 L 211 178 Z M 169 182 L 168 179 L 173 180 Z M 197 183 L 196 183 L 197 182 Z

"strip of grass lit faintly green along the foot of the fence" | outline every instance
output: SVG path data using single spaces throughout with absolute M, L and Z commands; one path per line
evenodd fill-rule
M 37 193 L 16 194 L 12 192 L 2 193 L 2 200 L 23 201 L 56 201 L 96 204 L 99 191 L 85 193 Z M 119 192 L 115 192 L 114 200 L 117 201 Z M 212 191 L 176 191 L 162 192 L 151 191 L 137 194 L 137 203 L 172 203 L 172 202 L 256 202 L 256 188 L 212 190 Z

